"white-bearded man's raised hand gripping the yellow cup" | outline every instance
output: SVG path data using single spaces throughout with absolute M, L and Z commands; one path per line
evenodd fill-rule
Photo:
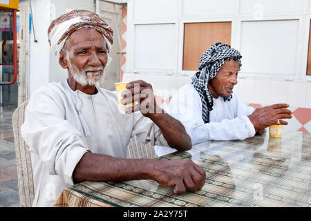
M 121 100 L 121 104 L 135 103 L 135 106 L 125 109 L 126 113 L 141 111 L 144 117 L 150 117 L 153 113 L 164 113 L 156 104 L 151 84 L 142 80 L 137 80 L 126 84 L 126 88 L 128 90 L 124 90 L 121 94 L 121 96 L 124 97 Z

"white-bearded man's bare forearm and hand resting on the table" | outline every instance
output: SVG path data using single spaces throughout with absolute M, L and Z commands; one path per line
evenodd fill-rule
M 174 193 L 197 191 L 205 184 L 205 170 L 189 159 L 120 159 L 109 155 L 85 153 L 73 171 L 73 180 L 127 181 L 155 180 L 174 187 Z

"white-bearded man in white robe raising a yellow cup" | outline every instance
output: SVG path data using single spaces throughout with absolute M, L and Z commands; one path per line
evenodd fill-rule
M 138 97 L 127 113 L 119 111 L 115 93 L 98 86 L 113 44 L 108 24 L 93 12 L 73 10 L 50 24 L 48 40 L 68 79 L 39 88 L 25 111 L 21 135 L 30 146 L 33 206 L 52 206 L 62 189 L 84 180 L 156 180 L 176 194 L 202 188 L 205 171 L 191 160 L 124 159 L 133 135 L 180 151 L 189 150 L 191 140 L 156 106 L 150 84 L 126 85 L 122 104 Z

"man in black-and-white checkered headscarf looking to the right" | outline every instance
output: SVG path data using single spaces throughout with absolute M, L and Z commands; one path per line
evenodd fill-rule
M 199 71 L 191 84 L 182 86 L 172 97 L 169 114 L 185 126 L 193 145 L 209 140 L 244 140 L 279 120 L 291 118 L 288 104 L 274 104 L 256 110 L 246 106 L 232 90 L 238 84 L 241 67 L 238 50 L 222 43 L 212 44 L 202 53 Z M 171 153 L 172 148 L 156 146 L 156 153 Z

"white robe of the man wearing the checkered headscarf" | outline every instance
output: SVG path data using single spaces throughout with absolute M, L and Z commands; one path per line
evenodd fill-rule
M 246 106 L 234 93 L 232 96 L 229 102 L 223 97 L 213 98 L 213 110 L 209 113 L 209 123 L 205 124 L 200 95 L 192 84 L 186 84 L 173 95 L 169 114 L 182 122 L 193 145 L 209 140 L 244 140 L 254 136 L 255 128 L 247 117 L 254 108 Z M 156 146 L 157 155 L 173 151 L 176 150 Z

